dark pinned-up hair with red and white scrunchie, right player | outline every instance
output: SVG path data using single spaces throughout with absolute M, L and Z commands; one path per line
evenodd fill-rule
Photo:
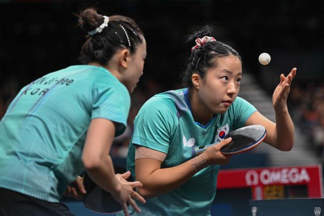
M 192 35 L 189 35 L 186 44 L 190 45 L 188 47 L 191 49 L 191 47 L 195 45 L 195 40 L 197 38 L 203 38 L 205 36 L 212 37 L 212 32 L 214 32 L 214 27 L 206 25 L 200 31 L 196 31 Z M 217 40 L 217 38 L 215 39 Z M 237 51 L 220 41 L 208 42 L 194 49 L 186 61 L 186 68 L 182 74 L 182 85 L 189 88 L 192 87 L 192 74 L 196 73 L 204 79 L 206 70 L 217 66 L 218 58 L 229 55 L 234 55 L 241 60 Z

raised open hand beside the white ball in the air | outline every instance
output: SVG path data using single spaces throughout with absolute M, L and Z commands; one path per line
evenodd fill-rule
M 285 112 L 287 108 L 287 97 L 290 91 L 290 85 L 296 76 L 297 68 L 294 67 L 287 77 L 280 75 L 280 83 L 275 88 L 272 95 L 272 103 L 275 111 Z

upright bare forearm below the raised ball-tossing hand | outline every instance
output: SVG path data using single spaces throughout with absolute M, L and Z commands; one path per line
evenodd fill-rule
M 276 148 L 281 151 L 290 151 L 294 146 L 295 129 L 288 109 L 283 112 L 275 112 L 275 120 L 274 137 Z

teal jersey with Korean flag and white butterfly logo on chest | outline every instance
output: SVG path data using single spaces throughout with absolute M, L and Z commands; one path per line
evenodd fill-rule
M 192 117 L 188 89 L 168 91 L 150 98 L 134 121 L 134 134 L 127 156 L 127 169 L 135 178 L 135 145 L 167 154 L 161 168 L 174 167 L 195 157 L 194 149 L 220 142 L 230 131 L 244 127 L 256 111 L 237 97 L 224 114 L 215 114 L 207 125 Z M 179 188 L 137 202 L 141 215 L 210 215 L 216 195 L 219 165 L 200 170 Z M 175 175 L 177 173 L 174 173 Z M 133 215 L 138 213 L 130 207 Z

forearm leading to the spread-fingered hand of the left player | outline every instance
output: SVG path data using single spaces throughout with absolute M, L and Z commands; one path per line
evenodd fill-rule
M 86 167 L 88 175 L 102 189 L 108 192 L 119 190 L 118 179 L 112 165 L 112 160 L 109 155 L 100 160 L 97 165 Z

